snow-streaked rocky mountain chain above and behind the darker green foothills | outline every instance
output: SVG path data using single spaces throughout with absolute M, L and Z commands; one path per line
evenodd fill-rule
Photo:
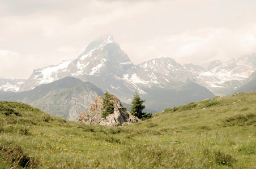
M 137 90 L 140 94 L 146 94 L 146 90 L 141 87 L 165 88 L 172 86 L 172 83 L 194 82 L 216 95 L 225 95 L 239 87 L 255 69 L 255 54 L 224 63 L 215 60 L 203 66 L 181 65 L 170 57 L 134 65 L 118 43 L 114 42 L 113 36 L 104 34 L 89 43 L 77 59 L 34 70 L 20 91 L 72 76 L 96 84 L 103 91 L 108 89 L 117 92 L 126 88 L 130 92 Z

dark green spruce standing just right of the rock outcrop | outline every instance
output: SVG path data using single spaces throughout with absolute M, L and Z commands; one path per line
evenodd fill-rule
M 143 104 L 146 100 L 140 99 L 140 96 L 135 92 L 133 101 L 131 101 L 131 114 L 135 115 L 139 119 L 148 119 L 152 117 L 152 114 L 143 113 L 142 110 L 145 108 Z

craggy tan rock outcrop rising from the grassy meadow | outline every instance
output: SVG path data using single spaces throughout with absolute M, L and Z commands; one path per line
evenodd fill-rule
M 126 110 L 125 106 L 122 106 L 119 99 L 112 95 L 110 101 L 114 103 L 114 112 L 109 114 L 106 118 L 101 117 L 103 112 L 103 97 L 97 97 L 97 99 L 89 106 L 86 113 L 80 113 L 78 121 L 85 124 L 100 124 L 102 126 L 125 126 L 131 123 L 141 122 L 140 119 L 131 115 Z

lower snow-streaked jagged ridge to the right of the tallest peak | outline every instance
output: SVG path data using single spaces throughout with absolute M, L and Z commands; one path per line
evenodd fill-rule
M 180 65 L 169 57 L 161 57 L 146 61 L 139 66 L 144 69 L 144 71 L 139 70 L 140 72 L 146 72 L 148 76 L 157 78 L 157 82 L 164 85 L 175 81 L 193 82 L 206 87 L 215 95 L 223 96 L 231 94 L 242 86 L 242 83 L 256 70 L 256 56 L 244 55 L 226 63 L 215 60 L 202 66 Z

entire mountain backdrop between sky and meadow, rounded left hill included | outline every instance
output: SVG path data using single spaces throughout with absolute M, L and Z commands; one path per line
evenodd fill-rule
M 255 53 L 201 66 L 181 65 L 169 57 L 135 65 L 112 35 L 105 34 L 75 60 L 36 69 L 27 80 L 0 78 L 0 100 L 22 101 L 74 121 L 103 91 L 125 105 L 138 92 L 146 99 L 147 113 L 155 113 L 215 95 L 253 91 L 255 70 Z

